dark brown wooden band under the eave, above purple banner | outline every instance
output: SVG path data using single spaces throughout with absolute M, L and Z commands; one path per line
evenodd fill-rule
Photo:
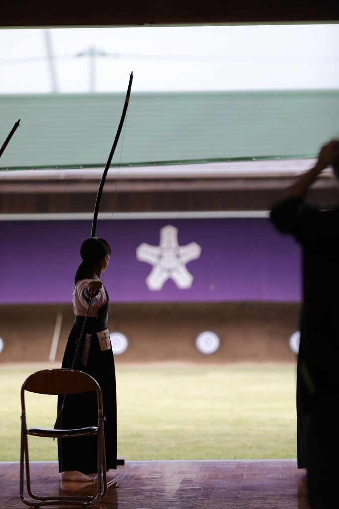
M 218 189 L 199 191 L 118 192 L 114 212 L 171 212 L 269 210 L 280 200 L 282 189 Z M 62 199 L 61 199 L 62 198 Z M 93 212 L 96 193 L 7 193 L 0 195 L 0 214 Z M 322 208 L 338 203 L 337 188 L 314 188 L 310 201 Z M 113 193 L 102 196 L 100 212 L 112 212 Z

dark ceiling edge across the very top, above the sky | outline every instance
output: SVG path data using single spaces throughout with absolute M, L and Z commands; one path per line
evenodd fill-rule
M 14 0 L 3 2 L 0 26 L 133 26 L 162 24 L 335 22 L 338 0 Z

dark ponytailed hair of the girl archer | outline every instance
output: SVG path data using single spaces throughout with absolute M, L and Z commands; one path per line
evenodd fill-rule
M 90 237 L 83 241 L 80 256 L 83 260 L 75 274 L 75 284 L 81 279 L 93 279 L 100 260 L 111 254 L 109 243 L 100 237 Z

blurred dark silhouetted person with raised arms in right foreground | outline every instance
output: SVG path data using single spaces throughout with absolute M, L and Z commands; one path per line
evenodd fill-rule
M 307 468 L 309 500 L 315 509 L 337 503 L 333 505 L 339 461 L 339 207 L 319 210 L 304 199 L 323 169 L 338 159 L 339 142 L 333 140 L 271 211 L 276 228 L 293 234 L 302 247 L 298 468 Z

